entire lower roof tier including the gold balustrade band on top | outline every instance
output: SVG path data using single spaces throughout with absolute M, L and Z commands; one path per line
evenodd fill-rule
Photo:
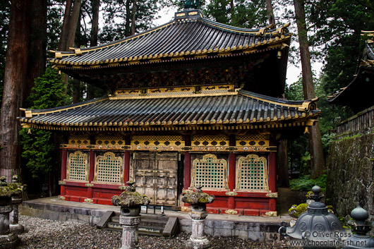
M 117 90 L 114 95 L 53 109 L 22 109 L 24 127 L 47 130 L 152 130 L 206 126 L 311 126 L 315 101 L 289 101 L 234 85 Z

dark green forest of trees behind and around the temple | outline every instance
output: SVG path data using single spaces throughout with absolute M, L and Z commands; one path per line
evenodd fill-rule
M 354 78 L 365 40 L 361 37 L 361 30 L 374 30 L 374 3 L 371 0 L 296 1 L 303 4 L 306 13 L 311 61 L 322 63 L 322 70 L 319 75 L 314 75 L 313 82 L 315 95 L 320 98 L 321 140 L 327 157 L 338 116 L 344 120 L 352 112 L 346 107 L 333 107 L 326 97 Z M 205 18 L 219 23 L 261 28 L 269 24 L 269 3 L 274 9 L 277 26 L 291 23 L 289 29 L 295 35 L 291 42 L 289 64 L 297 65 L 300 61 L 297 39 L 300 34 L 296 29 L 294 1 L 206 0 L 200 8 Z M 4 77 L 9 76 L 5 75 L 6 61 L 17 61 L 23 72 L 13 68 L 16 85 L 11 92 L 16 96 L 18 108 L 47 109 L 105 95 L 106 92 L 100 89 L 64 75 L 61 77 L 52 70 L 47 63 L 47 57 L 51 56 L 49 50 L 93 47 L 145 31 L 155 26 L 153 21 L 159 11 L 173 6 L 181 8 L 181 3 L 173 0 L 0 1 L 0 111 L 11 110 L 6 96 L 9 90 L 4 90 Z M 11 29 L 16 30 L 13 37 L 9 36 Z M 16 50 L 12 54 L 10 51 L 14 47 Z M 286 86 L 285 97 L 294 100 L 304 98 L 302 78 Z M 22 115 L 18 109 L 16 111 L 17 116 Z M 4 122 L 0 122 L 0 130 L 16 126 L 16 132 L 20 133 L 18 138 L 15 135 L 14 150 L 22 157 L 12 163 L 22 169 L 23 180 L 28 183 L 29 189 L 38 192 L 42 185 L 47 184 L 49 195 L 58 193 L 56 183 L 60 167 L 56 158 L 59 158 L 59 134 L 22 130 L 18 122 Z M 5 143 L 0 141 L 1 147 L 6 146 Z M 288 168 L 300 171 L 302 181 L 307 182 L 310 178 L 308 136 L 288 140 L 287 144 Z M 319 176 L 318 181 L 323 182 L 325 174 Z M 300 184 L 296 183 L 294 188 L 298 187 Z

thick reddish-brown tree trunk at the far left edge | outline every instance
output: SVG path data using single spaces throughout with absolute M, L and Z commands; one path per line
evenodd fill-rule
M 27 78 L 30 35 L 30 1 L 11 1 L 9 17 L 4 93 L 0 116 L 0 174 L 9 178 L 20 174 L 20 123 L 17 116 L 23 106 Z

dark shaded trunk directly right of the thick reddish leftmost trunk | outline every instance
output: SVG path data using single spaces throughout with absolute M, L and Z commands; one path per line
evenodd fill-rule
M 28 49 L 28 80 L 23 98 L 30 95 L 34 80 L 45 72 L 47 61 L 47 0 L 32 0 L 30 11 L 30 42 Z

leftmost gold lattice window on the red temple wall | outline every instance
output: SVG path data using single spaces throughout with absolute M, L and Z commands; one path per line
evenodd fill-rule
M 66 179 L 88 181 L 88 154 L 80 151 L 69 154 Z

